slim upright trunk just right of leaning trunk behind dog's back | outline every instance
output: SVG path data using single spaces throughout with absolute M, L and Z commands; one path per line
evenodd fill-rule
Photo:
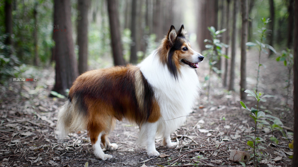
M 138 58 L 136 57 L 136 0 L 132 0 L 131 3 L 131 57 L 130 62 L 136 64 Z

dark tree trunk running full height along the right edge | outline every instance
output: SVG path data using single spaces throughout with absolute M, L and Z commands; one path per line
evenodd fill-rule
M 294 20 L 294 155 L 293 167 L 298 166 L 298 5 L 295 4 Z

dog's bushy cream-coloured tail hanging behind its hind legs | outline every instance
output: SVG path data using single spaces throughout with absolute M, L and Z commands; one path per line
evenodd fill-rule
M 87 128 L 86 113 L 80 111 L 77 101 L 68 100 L 58 112 L 57 137 L 63 139 L 69 133 L 83 131 Z

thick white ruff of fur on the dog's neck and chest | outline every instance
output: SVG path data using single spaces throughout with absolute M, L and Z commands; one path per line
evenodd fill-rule
M 139 67 L 153 87 L 159 103 L 162 117 L 158 121 L 158 134 L 172 133 L 184 123 L 198 99 L 200 86 L 197 74 L 194 69 L 182 66 L 181 75 L 175 79 L 154 52 Z

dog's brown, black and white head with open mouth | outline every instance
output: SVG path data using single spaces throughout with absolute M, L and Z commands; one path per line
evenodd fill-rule
M 204 59 L 204 56 L 191 48 L 186 33 L 183 25 L 178 31 L 172 25 L 159 47 L 161 61 L 167 64 L 175 78 L 178 77 L 181 67 L 199 68 L 198 63 Z

